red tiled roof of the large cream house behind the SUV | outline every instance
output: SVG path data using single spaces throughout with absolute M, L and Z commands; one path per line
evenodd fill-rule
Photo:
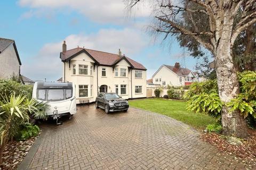
M 70 49 L 67 50 L 66 52 L 61 52 L 60 53 L 60 58 L 62 61 L 64 60 L 68 60 L 71 56 L 74 56 L 75 54 L 81 52 L 81 50 L 83 50 L 84 48 L 74 48 L 74 49 Z M 117 54 L 112 54 L 112 53 L 106 53 L 106 52 L 100 52 L 98 50 L 93 50 L 93 49 L 85 49 L 86 52 L 88 52 L 99 64 L 102 65 L 113 65 L 115 62 L 117 62 L 118 60 L 121 59 L 121 56 L 117 55 Z M 135 62 L 134 60 L 132 60 L 129 57 L 125 58 L 132 64 L 132 66 L 134 67 L 134 69 L 142 69 L 142 70 L 146 70 L 146 68 L 138 63 Z

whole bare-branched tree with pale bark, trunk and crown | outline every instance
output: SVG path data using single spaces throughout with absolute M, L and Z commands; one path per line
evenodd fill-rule
M 127 0 L 132 8 L 143 0 Z M 218 92 L 221 101 L 225 104 L 239 94 L 239 83 L 236 67 L 233 60 L 233 47 L 238 35 L 256 23 L 256 0 L 184 0 L 177 3 L 171 0 L 151 0 L 156 4 L 156 21 L 152 28 L 156 32 L 168 35 L 187 35 L 200 45 L 210 50 L 215 58 Z M 175 4 L 174 4 L 175 3 Z M 187 3 L 199 6 L 193 10 Z M 202 24 L 204 29 L 197 29 L 196 22 L 188 28 L 181 17 L 183 13 L 206 18 Z M 236 18 L 237 14 L 239 18 Z M 235 22 L 235 19 L 237 20 Z M 183 21 L 183 22 L 182 22 Z M 247 137 L 247 126 L 244 118 L 238 111 L 230 111 L 223 105 L 221 113 L 223 133 Z

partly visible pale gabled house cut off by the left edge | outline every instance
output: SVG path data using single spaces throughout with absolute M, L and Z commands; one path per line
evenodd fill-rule
M 14 40 L 0 38 L 0 65 L 0 78 L 20 76 L 21 61 Z

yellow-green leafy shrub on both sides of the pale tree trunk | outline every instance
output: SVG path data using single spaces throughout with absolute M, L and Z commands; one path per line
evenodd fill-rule
M 238 73 L 240 94 L 229 103 L 222 103 L 218 95 L 217 80 L 194 82 L 185 93 L 187 109 L 195 113 L 205 113 L 221 120 L 223 105 L 230 107 L 230 111 L 238 110 L 249 122 L 256 120 L 256 72 L 244 71 Z M 251 115 L 251 116 L 249 116 Z M 248 121 L 247 121 L 248 122 Z

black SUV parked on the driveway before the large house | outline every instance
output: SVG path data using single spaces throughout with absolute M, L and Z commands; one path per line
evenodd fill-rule
M 105 109 L 106 113 L 114 111 L 127 111 L 129 108 L 128 101 L 118 96 L 114 92 L 101 92 L 95 101 L 96 108 Z

